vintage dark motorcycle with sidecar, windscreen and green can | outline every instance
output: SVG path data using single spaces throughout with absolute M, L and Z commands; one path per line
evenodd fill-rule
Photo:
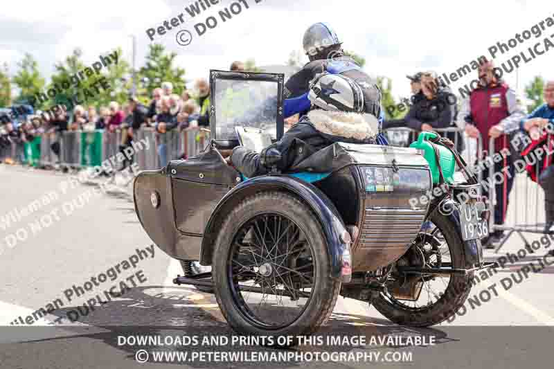
M 403 325 L 455 314 L 491 266 L 479 184 L 452 179 L 455 152 L 431 133 L 418 148 L 335 143 L 280 173 L 268 150 L 269 174 L 247 179 L 220 150 L 239 144 L 236 125 L 283 135 L 283 75 L 211 71 L 210 82 L 211 143 L 134 181 L 143 228 L 183 265 L 176 284 L 213 291 L 240 334 L 310 334 L 339 295 Z

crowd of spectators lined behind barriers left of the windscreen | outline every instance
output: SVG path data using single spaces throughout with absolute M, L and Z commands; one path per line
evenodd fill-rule
M 186 90 L 179 96 L 173 93 L 171 82 L 163 82 L 152 91 L 148 106 L 142 105 L 136 96 L 129 96 L 123 106 L 112 101 L 107 107 L 99 109 L 92 105 L 77 105 L 73 111 L 66 111 L 64 105 L 57 105 L 51 111 L 35 111 L 35 114 L 28 114 L 24 119 L 19 116 L 17 120 L 11 120 L 7 118 L 8 114 L 3 114 L 0 126 L 0 161 L 21 163 L 24 160 L 24 143 L 32 142 L 40 134 L 93 132 L 98 129 L 113 133 L 120 130 L 120 150 L 124 150 L 132 144 L 134 132 L 148 127 L 157 132 L 159 164 L 165 166 L 168 162 L 168 132 L 209 125 L 208 82 L 204 79 L 197 80 L 194 91 Z M 59 158 L 59 138 L 52 143 L 51 150 Z

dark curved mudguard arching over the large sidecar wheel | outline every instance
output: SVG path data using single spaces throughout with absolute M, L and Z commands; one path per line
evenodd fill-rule
M 332 201 L 321 190 L 301 179 L 287 175 L 269 174 L 255 177 L 240 183 L 229 191 L 217 204 L 204 230 L 200 264 L 211 265 L 217 231 L 221 228 L 226 216 L 242 199 L 264 190 L 283 190 L 291 192 L 310 206 L 319 219 L 319 226 L 327 240 L 328 253 L 331 261 L 331 276 L 341 277 L 342 255 L 344 244 L 340 235 L 346 231 L 341 216 Z

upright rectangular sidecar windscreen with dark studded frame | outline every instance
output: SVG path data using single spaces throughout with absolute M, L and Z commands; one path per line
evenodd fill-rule
M 210 71 L 211 138 L 217 147 L 237 145 L 235 127 L 283 136 L 283 74 Z

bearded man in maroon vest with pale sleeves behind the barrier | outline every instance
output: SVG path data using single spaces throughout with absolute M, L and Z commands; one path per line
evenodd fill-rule
M 481 134 L 483 150 L 490 156 L 510 147 L 507 134 L 519 129 L 525 112 L 521 108 L 517 95 L 494 73 L 492 61 L 479 66 L 479 87 L 470 93 L 469 99 L 462 104 L 458 117 L 465 124 L 465 132 L 472 138 Z M 488 147 L 490 138 L 495 138 L 494 146 Z M 490 151 L 490 152 L 489 152 Z M 485 155 L 485 153 L 483 153 Z M 483 159 L 483 158 L 481 158 Z M 515 175 L 514 163 L 510 156 L 499 163 L 494 163 L 494 172 L 505 172 L 502 183 L 495 183 L 496 204 L 494 205 L 494 224 L 503 224 L 508 209 L 508 196 L 512 190 Z M 487 175 L 485 173 L 485 175 Z M 483 188 L 483 195 L 488 195 L 488 188 Z M 490 196 L 489 196 L 490 198 Z M 489 247 L 498 242 L 503 231 L 494 231 L 488 240 L 483 240 Z

